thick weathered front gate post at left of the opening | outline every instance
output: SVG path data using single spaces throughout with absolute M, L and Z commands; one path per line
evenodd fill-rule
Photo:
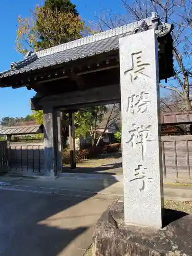
M 44 108 L 45 172 L 55 177 L 61 170 L 60 111 Z

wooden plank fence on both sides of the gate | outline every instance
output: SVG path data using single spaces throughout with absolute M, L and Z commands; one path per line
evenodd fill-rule
M 192 135 L 162 136 L 165 178 L 192 179 Z M 0 142 L 0 172 L 7 168 L 7 141 Z M 44 173 L 44 143 L 8 142 L 11 172 Z

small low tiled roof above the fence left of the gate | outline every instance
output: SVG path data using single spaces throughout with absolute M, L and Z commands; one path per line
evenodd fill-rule
M 33 126 L 12 126 L 12 127 L 0 127 L 0 135 L 23 135 L 23 134 L 36 134 L 42 133 L 39 125 Z

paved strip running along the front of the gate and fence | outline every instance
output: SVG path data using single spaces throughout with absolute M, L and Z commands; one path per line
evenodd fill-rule
M 62 196 L 83 196 L 91 198 L 95 195 L 110 195 L 123 200 L 122 176 L 105 174 L 63 174 L 58 179 L 0 177 L 1 187 L 12 190 L 30 190 L 38 193 L 59 194 Z M 2 185 L 2 186 L 1 186 Z M 0 190 L 1 191 L 1 190 Z M 192 185 L 164 184 L 164 198 L 170 200 L 192 200 Z

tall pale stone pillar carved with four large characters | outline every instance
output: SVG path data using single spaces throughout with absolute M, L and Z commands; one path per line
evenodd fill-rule
M 161 228 L 159 68 L 153 29 L 120 38 L 120 82 L 125 223 Z

